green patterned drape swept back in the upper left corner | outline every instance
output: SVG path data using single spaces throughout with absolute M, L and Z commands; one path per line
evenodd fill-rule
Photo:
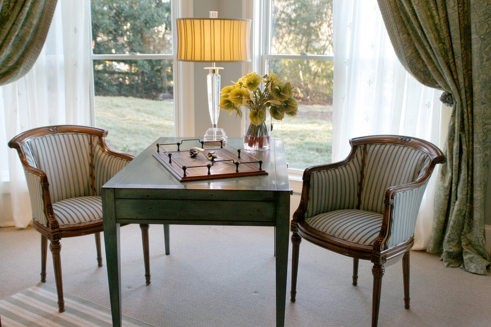
M 57 0 L 0 0 L 0 85 L 32 67 L 43 49 Z

